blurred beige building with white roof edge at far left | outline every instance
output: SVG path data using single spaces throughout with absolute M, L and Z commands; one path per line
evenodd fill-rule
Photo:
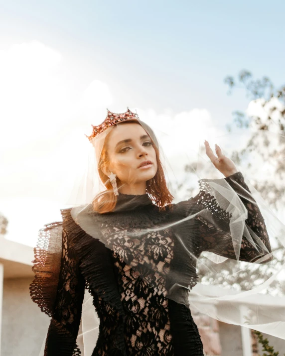
M 38 356 L 49 318 L 32 302 L 33 248 L 7 240 L 0 216 L 0 355 Z

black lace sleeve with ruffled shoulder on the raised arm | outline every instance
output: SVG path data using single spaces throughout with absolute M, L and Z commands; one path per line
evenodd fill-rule
M 242 173 L 221 180 L 203 179 L 199 184 L 199 194 L 190 201 L 196 205 L 200 252 L 247 262 L 272 260 L 264 218 Z

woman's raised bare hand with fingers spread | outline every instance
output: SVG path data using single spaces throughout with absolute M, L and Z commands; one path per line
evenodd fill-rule
M 234 162 L 222 153 L 221 148 L 217 144 L 215 144 L 217 157 L 215 156 L 215 154 L 207 140 L 205 140 L 204 144 L 205 144 L 207 156 L 210 158 L 213 165 L 221 173 L 223 173 L 223 175 L 225 177 L 228 177 L 228 176 L 238 172 L 238 169 L 235 166 Z

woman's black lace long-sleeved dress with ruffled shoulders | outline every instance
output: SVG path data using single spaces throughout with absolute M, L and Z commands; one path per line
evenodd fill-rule
M 249 191 L 241 172 L 225 179 L 234 189 L 243 187 Z M 206 200 L 201 200 L 201 194 L 204 193 L 174 205 L 171 213 L 159 212 L 147 194 L 120 194 L 116 211 L 100 214 L 101 233 L 108 236 L 112 231 L 114 236 L 115 230 L 122 244 L 124 226 L 139 228 L 146 224 L 155 227 L 165 219 L 171 220 L 173 214 L 186 216 L 190 209 L 204 204 Z M 140 203 L 138 208 L 120 209 L 134 197 L 136 204 Z M 243 203 L 248 210 L 247 224 L 271 251 L 259 208 L 246 199 Z M 71 218 L 70 209 L 61 212 L 63 222 L 46 225 L 40 233 L 33 261 L 35 279 L 30 285 L 33 301 L 51 317 L 44 355 L 81 355 L 76 339 L 86 288 L 93 296 L 100 319 L 99 337 L 92 356 L 203 356 L 199 331 L 189 308 L 166 298 L 165 284 L 159 283 L 158 274 L 152 276 L 157 277 L 153 287 L 147 279 L 142 280 L 136 268 L 124 262 L 120 250 L 109 249 L 87 235 Z M 202 251 L 211 251 L 236 258 L 231 235 L 223 230 L 222 220 L 217 227 L 197 215 L 196 219 L 191 219 L 191 224 L 195 224 L 198 234 L 189 242 L 196 257 Z M 186 233 L 189 229 L 190 225 L 184 227 Z M 221 239 L 226 246 L 223 251 L 219 246 Z M 142 240 L 145 263 L 179 268 L 181 253 L 176 245 L 175 232 L 171 229 L 149 233 L 147 243 Z M 120 249 L 120 244 L 118 246 Z M 254 250 L 245 240 L 240 260 L 254 262 L 262 252 Z M 187 285 L 193 287 L 197 283 L 195 259 L 183 268 Z

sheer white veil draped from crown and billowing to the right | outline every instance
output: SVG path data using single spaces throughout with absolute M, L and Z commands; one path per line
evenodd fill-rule
M 142 120 L 138 123 L 159 150 L 173 202 L 159 211 L 148 192 L 126 195 L 118 186 L 116 214 L 94 212 L 95 196 L 106 194 L 97 166 L 113 129 L 109 127 L 86 150 L 86 171 L 81 172 L 67 201 L 73 221 L 167 298 L 219 321 L 285 339 L 282 298 L 276 296 L 272 303 L 266 295 L 273 283 L 284 283 L 285 261 L 264 277 L 265 265 L 280 258 L 275 247 L 279 244 L 278 253 L 285 252 L 284 224 L 237 162 L 239 172 L 224 177 L 205 156 L 202 144 L 196 151 L 187 149 L 187 142 L 181 145 L 177 134 L 154 132 Z M 180 146 L 177 154 L 172 152 L 171 147 Z M 262 179 L 258 173 L 253 178 Z M 136 223 L 132 216 L 141 213 L 144 220 Z M 251 276 L 246 287 L 245 276 Z M 83 355 L 92 354 L 98 328 L 86 289 L 78 334 Z

